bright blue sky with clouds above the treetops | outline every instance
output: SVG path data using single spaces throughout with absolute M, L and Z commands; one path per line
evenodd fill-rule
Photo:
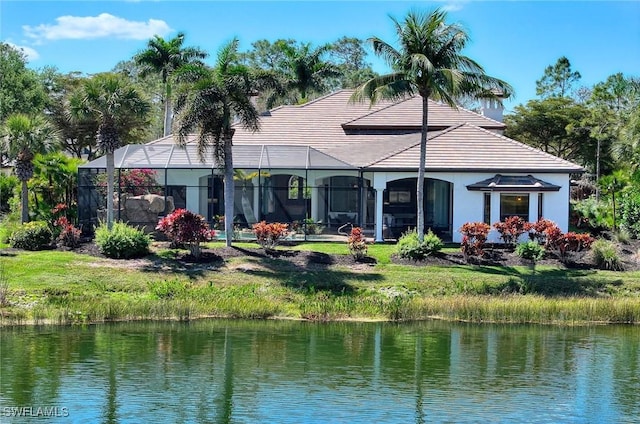
M 263 38 L 318 45 L 375 35 L 395 43 L 390 16 L 435 7 L 470 34 L 465 53 L 514 86 L 507 110 L 535 98 L 535 81 L 561 56 L 585 86 L 616 72 L 640 76 L 640 1 L 0 0 L 0 39 L 24 48 L 32 68 L 91 74 L 131 58 L 154 34 L 178 31 L 211 57 L 234 36 L 241 50 Z

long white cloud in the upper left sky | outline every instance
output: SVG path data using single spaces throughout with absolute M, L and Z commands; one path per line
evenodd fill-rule
M 35 27 L 24 25 L 25 34 L 36 43 L 43 40 L 93 39 L 116 37 L 146 40 L 154 35 L 164 36 L 172 31 L 166 22 L 149 19 L 147 22 L 128 21 L 108 13 L 98 16 L 60 16 L 55 24 Z

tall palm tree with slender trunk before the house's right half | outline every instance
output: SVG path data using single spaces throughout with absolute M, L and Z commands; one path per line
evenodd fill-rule
M 381 99 L 398 100 L 419 94 L 422 97 L 422 135 L 417 183 L 417 231 L 424 240 L 424 171 L 429 117 L 428 99 L 440 100 L 457 108 L 456 99 L 494 98 L 499 91 L 509 97 L 511 86 L 487 76 L 482 66 L 461 51 L 469 37 L 455 24 L 447 24 L 446 12 L 440 9 L 429 14 L 409 12 L 403 22 L 393 19 L 400 42 L 396 49 L 377 37 L 371 38 L 376 55 L 381 56 L 393 70 L 362 84 L 350 101 Z

